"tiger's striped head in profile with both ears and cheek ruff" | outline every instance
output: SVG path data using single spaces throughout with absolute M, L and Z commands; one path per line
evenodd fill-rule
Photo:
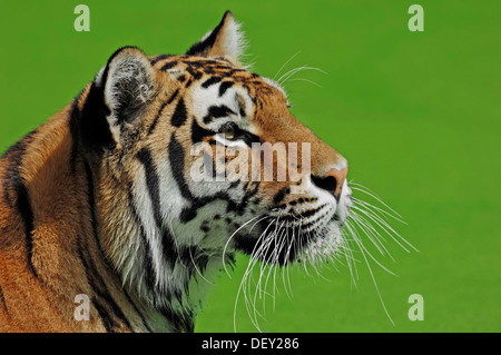
M 238 252 L 316 263 L 343 243 L 346 159 L 239 62 L 243 47 L 227 11 L 186 55 L 119 49 L 76 100 L 105 252 L 155 302 Z

